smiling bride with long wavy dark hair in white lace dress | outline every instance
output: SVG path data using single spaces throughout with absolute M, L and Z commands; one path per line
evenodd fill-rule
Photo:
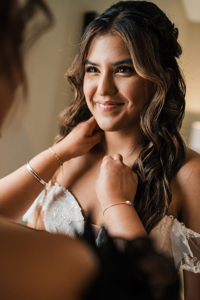
M 179 133 L 185 81 L 177 62 L 182 53 L 177 38 L 178 29 L 166 14 L 146 1 L 118 2 L 88 25 L 66 73 L 74 99 L 59 116 L 57 141 L 90 114 L 104 139 L 66 161 L 63 173 L 58 169 L 24 220 L 73 237 L 83 233 L 84 219 L 92 211 L 100 244 L 103 224 L 111 235 L 137 236 L 137 214 L 156 249 L 184 270 L 187 300 L 200 293 L 200 156 L 185 146 Z M 120 203 L 119 193 L 112 201 L 99 196 L 102 159 L 106 155 L 104 163 L 111 164 L 114 153 L 138 176 L 136 195 L 127 196 L 134 210 Z M 103 175 L 105 184 L 113 180 L 108 172 Z

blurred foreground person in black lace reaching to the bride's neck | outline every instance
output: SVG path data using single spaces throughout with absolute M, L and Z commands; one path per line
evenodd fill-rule
M 0 4 L 0 124 L 13 103 L 20 84 L 25 86 L 22 45 L 28 22 L 42 11 L 45 26 L 52 16 L 43 1 L 1 1 Z M 40 26 L 32 41 L 41 33 Z M 32 42 L 31 41 L 31 42 Z M 76 126 L 66 138 L 30 161 L 31 167 L 49 182 L 62 162 L 89 151 L 103 137 L 94 117 Z M 59 158 L 56 153 L 59 153 Z M 111 164 L 105 161 L 112 161 Z M 120 162 L 120 163 L 119 163 Z M 117 171 L 117 172 L 116 172 Z M 116 154 L 104 158 L 98 186 L 112 197 L 116 181 L 129 175 L 128 192 L 135 193 L 136 176 Z M 104 172 L 112 180 L 104 182 Z M 35 175 L 35 174 L 34 174 Z M 63 235 L 30 229 L 18 221 L 43 189 L 23 166 L 0 181 L 0 296 L 1 299 L 177 299 L 178 277 L 166 259 L 155 253 L 142 227 L 136 239 L 111 238 L 105 234 L 101 247 L 95 243 L 90 219 L 85 233 L 76 240 Z M 44 181 L 45 180 L 45 181 Z M 127 193 L 127 191 L 126 191 Z M 124 193 L 124 199 L 126 199 Z M 123 193 L 121 193 L 123 196 Z M 9 199 L 13 199 L 10 205 Z M 17 214 L 16 214 L 17 208 Z M 138 223 L 140 226 L 140 223 Z M 126 286 L 128 285 L 128 286 Z

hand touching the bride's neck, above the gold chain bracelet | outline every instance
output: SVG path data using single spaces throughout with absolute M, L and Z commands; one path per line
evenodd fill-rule
M 63 140 L 52 146 L 52 149 L 62 162 L 84 155 L 102 140 L 103 131 L 95 133 L 97 130 L 100 128 L 92 116 L 79 123 Z

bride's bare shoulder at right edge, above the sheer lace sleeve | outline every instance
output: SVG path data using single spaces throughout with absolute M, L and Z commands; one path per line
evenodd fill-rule
M 184 164 L 172 180 L 172 187 L 178 199 L 181 221 L 200 232 L 200 155 L 197 152 L 187 148 Z

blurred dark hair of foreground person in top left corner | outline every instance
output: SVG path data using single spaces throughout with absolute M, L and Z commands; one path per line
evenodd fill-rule
M 24 52 L 53 25 L 42 0 L 0 1 L 0 75 L 12 81 L 13 66 L 25 83 Z

